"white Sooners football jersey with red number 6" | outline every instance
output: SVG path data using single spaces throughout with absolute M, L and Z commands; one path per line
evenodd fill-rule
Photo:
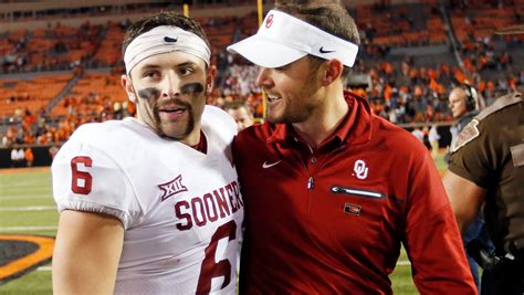
M 232 165 L 234 120 L 206 106 L 202 154 L 135 118 L 81 126 L 53 165 L 59 211 L 124 224 L 115 293 L 235 294 L 243 202 Z

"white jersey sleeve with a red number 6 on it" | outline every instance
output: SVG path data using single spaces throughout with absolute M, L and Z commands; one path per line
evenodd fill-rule
M 54 158 L 51 171 L 59 211 L 114 215 L 126 230 L 139 218 L 140 206 L 129 179 L 104 151 L 70 140 Z

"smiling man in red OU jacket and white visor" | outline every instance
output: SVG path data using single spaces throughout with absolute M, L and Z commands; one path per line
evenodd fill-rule
M 268 123 L 233 145 L 242 294 L 391 294 L 405 245 L 421 294 L 476 294 L 428 150 L 344 91 L 358 31 L 335 3 L 279 4 L 228 50 L 261 66 Z

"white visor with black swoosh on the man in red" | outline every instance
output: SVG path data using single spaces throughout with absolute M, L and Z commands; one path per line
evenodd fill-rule
M 352 67 L 358 46 L 277 10 L 271 10 L 256 34 L 228 46 L 263 67 L 280 67 L 307 54 L 339 60 Z

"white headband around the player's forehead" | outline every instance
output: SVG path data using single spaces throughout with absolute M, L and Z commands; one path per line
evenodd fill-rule
M 174 51 L 200 57 L 209 66 L 211 51 L 200 36 L 178 27 L 160 25 L 138 35 L 129 43 L 124 54 L 126 73 L 129 75 L 135 65 L 149 56 Z

